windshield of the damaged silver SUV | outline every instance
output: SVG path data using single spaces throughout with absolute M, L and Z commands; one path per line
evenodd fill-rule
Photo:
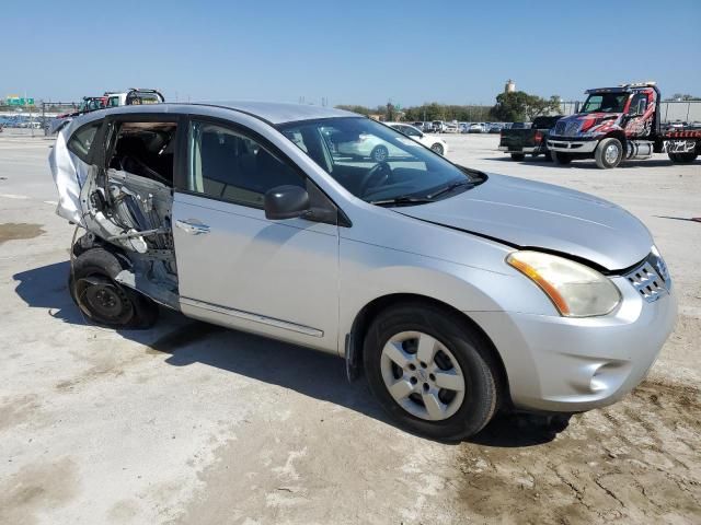
M 371 203 L 428 202 L 486 178 L 369 118 L 306 120 L 278 128 L 344 188 Z

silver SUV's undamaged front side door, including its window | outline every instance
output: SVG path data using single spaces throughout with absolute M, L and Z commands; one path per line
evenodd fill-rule
M 267 220 L 263 199 L 290 184 L 306 187 L 312 206 L 333 203 L 240 124 L 193 117 L 186 140 L 185 177 L 173 202 L 183 312 L 335 352 L 337 225 Z

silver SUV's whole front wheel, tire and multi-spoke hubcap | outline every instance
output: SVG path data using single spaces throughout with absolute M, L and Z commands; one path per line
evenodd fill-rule
M 368 330 L 363 359 L 382 407 L 426 436 L 470 436 L 497 409 L 497 371 L 487 345 L 449 311 L 415 303 L 382 312 Z

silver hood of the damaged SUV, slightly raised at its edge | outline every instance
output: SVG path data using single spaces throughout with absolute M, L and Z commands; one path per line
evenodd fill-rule
M 617 205 L 504 175 L 490 175 L 485 183 L 437 202 L 394 210 L 521 248 L 568 254 L 607 270 L 635 265 L 653 246 L 645 225 Z

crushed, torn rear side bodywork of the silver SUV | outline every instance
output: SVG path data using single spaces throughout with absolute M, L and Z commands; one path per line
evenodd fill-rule
M 82 159 L 68 145 L 73 126 L 59 133 L 49 156 L 59 191 L 57 213 L 88 231 L 80 240 L 83 249 L 104 242 L 123 248 L 129 264 L 115 277 L 117 282 L 180 310 L 171 221 L 173 190 L 153 178 L 111 167 L 120 166 L 127 156 L 116 147 L 125 136 L 124 127 L 106 126 L 111 137 L 96 131 L 93 140 L 104 140 L 106 149 L 99 149 L 103 154 Z M 169 143 L 175 139 L 175 126 L 172 128 Z

